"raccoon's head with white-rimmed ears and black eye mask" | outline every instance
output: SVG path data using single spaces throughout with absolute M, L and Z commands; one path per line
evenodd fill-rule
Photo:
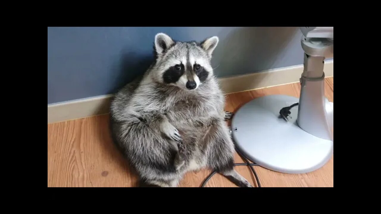
M 154 78 L 164 84 L 195 90 L 213 75 L 211 56 L 218 37 L 197 42 L 174 42 L 168 35 L 155 36 Z

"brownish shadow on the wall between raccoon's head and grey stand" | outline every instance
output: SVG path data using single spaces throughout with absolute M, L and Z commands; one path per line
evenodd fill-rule
M 218 77 L 272 69 L 288 44 L 300 41 L 299 34 L 298 27 L 243 27 L 233 30 L 216 48 L 213 67 L 217 67 Z M 303 55 L 299 58 L 296 61 L 303 62 Z

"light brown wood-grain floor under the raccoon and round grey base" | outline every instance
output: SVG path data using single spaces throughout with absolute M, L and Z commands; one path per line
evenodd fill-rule
M 226 110 L 234 112 L 256 97 L 286 94 L 299 97 L 300 84 L 274 86 L 227 96 Z M 333 102 L 333 77 L 326 78 L 325 95 Z M 109 135 L 109 115 L 48 124 L 48 187 L 134 187 L 138 178 L 115 149 Z M 236 163 L 243 163 L 236 155 Z M 253 185 L 247 166 L 236 170 Z M 322 168 L 307 174 L 282 174 L 255 166 L 262 187 L 333 187 L 333 157 Z M 209 170 L 189 172 L 180 187 L 199 187 Z M 215 174 L 206 187 L 236 187 Z

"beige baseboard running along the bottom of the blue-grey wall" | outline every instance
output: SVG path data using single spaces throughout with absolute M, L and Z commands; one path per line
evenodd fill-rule
M 325 77 L 333 76 L 333 61 L 325 62 L 324 72 Z M 301 73 L 303 73 L 303 65 L 296 65 L 259 73 L 219 78 L 219 82 L 223 91 L 229 94 L 299 82 Z M 107 94 L 48 105 L 48 123 L 108 113 L 112 96 L 113 94 Z

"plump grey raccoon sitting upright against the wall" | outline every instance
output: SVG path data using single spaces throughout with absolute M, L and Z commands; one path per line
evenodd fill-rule
M 115 95 L 110 125 L 115 143 L 141 187 L 177 187 L 188 171 L 210 168 L 239 187 L 225 97 L 211 67 L 218 37 L 178 42 L 155 35 L 155 61 Z

